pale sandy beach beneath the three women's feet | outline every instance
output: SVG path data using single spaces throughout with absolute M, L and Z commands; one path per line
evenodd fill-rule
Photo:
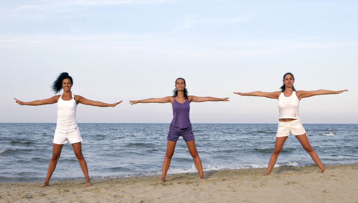
M 344 202 L 358 203 L 358 164 L 282 166 L 210 171 L 198 174 L 42 183 L 0 183 L 0 202 Z

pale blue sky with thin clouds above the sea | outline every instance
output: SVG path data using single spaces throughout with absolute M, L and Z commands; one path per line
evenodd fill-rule
M 358 123 L 358 1 L 0 0 L 0 123 L 56 122 L 59 73 L 72 91 L 116 107 L 79 104 L 79 123 L 170 123 L 175 79 L 189 95 L 192 123 L 277 123 L 277 100 L 233 92 L 345 90 L 303 98 L 303 123 Z

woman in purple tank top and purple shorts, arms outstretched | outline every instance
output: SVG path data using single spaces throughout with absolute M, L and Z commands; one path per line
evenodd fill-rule
M 195 167 L 197 168 L 200 179 L 204 179 L 203 166 L 195 146 L 195 137 L 192 130 L 192 124 L 189 119 L 190 102 L 204 102 L 204 101 L 229 101 L 226 98 L 215 97 L 196 97 L 188 96 L 188 91 L 185 88 L 185 80 L 178 78 L 175 80 L 175 89 L 173 90 L 173 96 L 163 98 L 149 98 L 145 100 L 129 101 L 130 104 L 136 103 L 171 103 L 173 108 L 173 120 L 169 126 L 168 142 L 166 146 L 165 158 L 163 161 L 163 169 L 161 181 L 165 181 L 166 173 L 168 172 L 171 158 L 174 154 L 175 144 L 179 136 L 182 136 L 187 143 L 190 155 L 194 159 Z

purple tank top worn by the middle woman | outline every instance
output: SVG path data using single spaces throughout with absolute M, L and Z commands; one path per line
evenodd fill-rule
M 179 127 L 181 129 L 190 127 L 192 125 L 189 119 L 189 111 L 190 105 L 189 100 L 185 101 L 184 103 L 179 103 L 175 100 L 173 102 L 173 120 L 171 121 L 171 125 L 175 127 Z

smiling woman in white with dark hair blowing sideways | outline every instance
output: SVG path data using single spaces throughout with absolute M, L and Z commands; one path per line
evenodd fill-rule
M 22 102 L 14 98 L 16 100 L 16 103 L 18 103 L 19 105 L 38 106 L 53 103 L 58 104 L 57 126 L 53 140 L 53 154 L 48 166 L 46 180 L 42 185 L 40 185 L 40 187 L 46 187 L 49 185 L 52 173 L 56 168 L 58 159 L 60 158 L 63 144 L 67 143 L 67 141 L 72 145 L 74 154 L 76 155 L 76 158 L 79 161 L 79 165 L 81 166 L 81 169 L 83 171 L 84 177 L 86 178 L 85 186 L 91 185 L 91 180 L 89 179 L 88 175 L 87 163 L 82 154 L 82 138 L 79 134 L 76 121 L 77 105 L 79 103 L 82 103 L 84 105 L 99 107 L 115 107 L 117 104 L 122 102 L 119 101 L 117 103 L 108 104 L 99 101 L 88 100 L 79 95 L 73 95 L 73 93 L 71 92 L 72 85 L 72 77 L 69 76 L 68 73 L 64 72 L 57 77 L 56 81 L 54 81 L 52 85 L 52 90 L 54 91 L 54 93 L 58 93 L 63 89 L 62 95 L 56 95 L 45 100 L 36 100 L 32 102 Z

